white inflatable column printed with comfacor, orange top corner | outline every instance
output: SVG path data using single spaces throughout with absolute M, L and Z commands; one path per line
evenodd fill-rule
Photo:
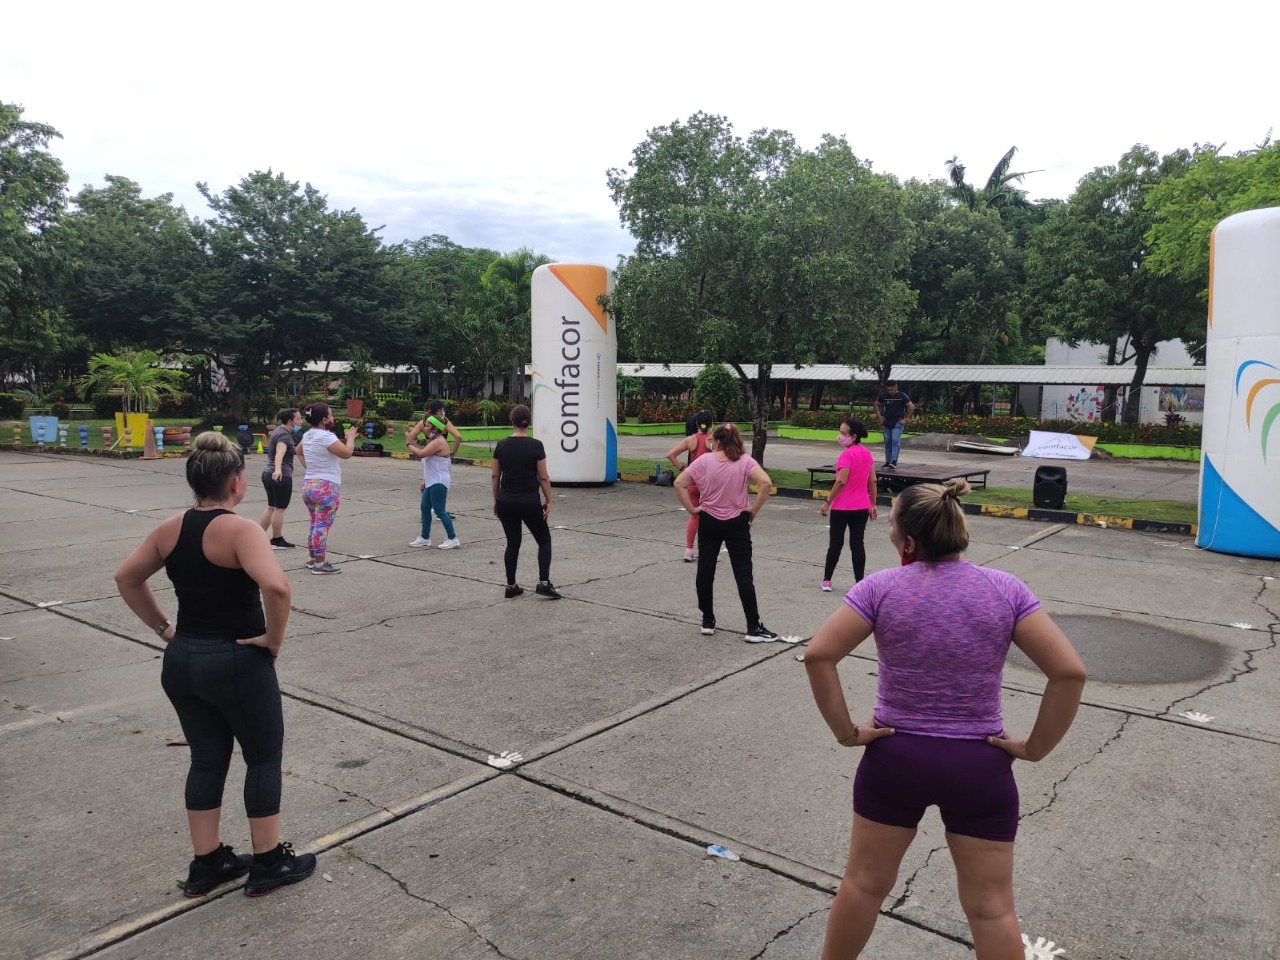
M 549 264 L 530 294 L 534 424 L 553 484 L 618 479 L 618 334 L 598 298 L 611 293 L 603 266 Z

